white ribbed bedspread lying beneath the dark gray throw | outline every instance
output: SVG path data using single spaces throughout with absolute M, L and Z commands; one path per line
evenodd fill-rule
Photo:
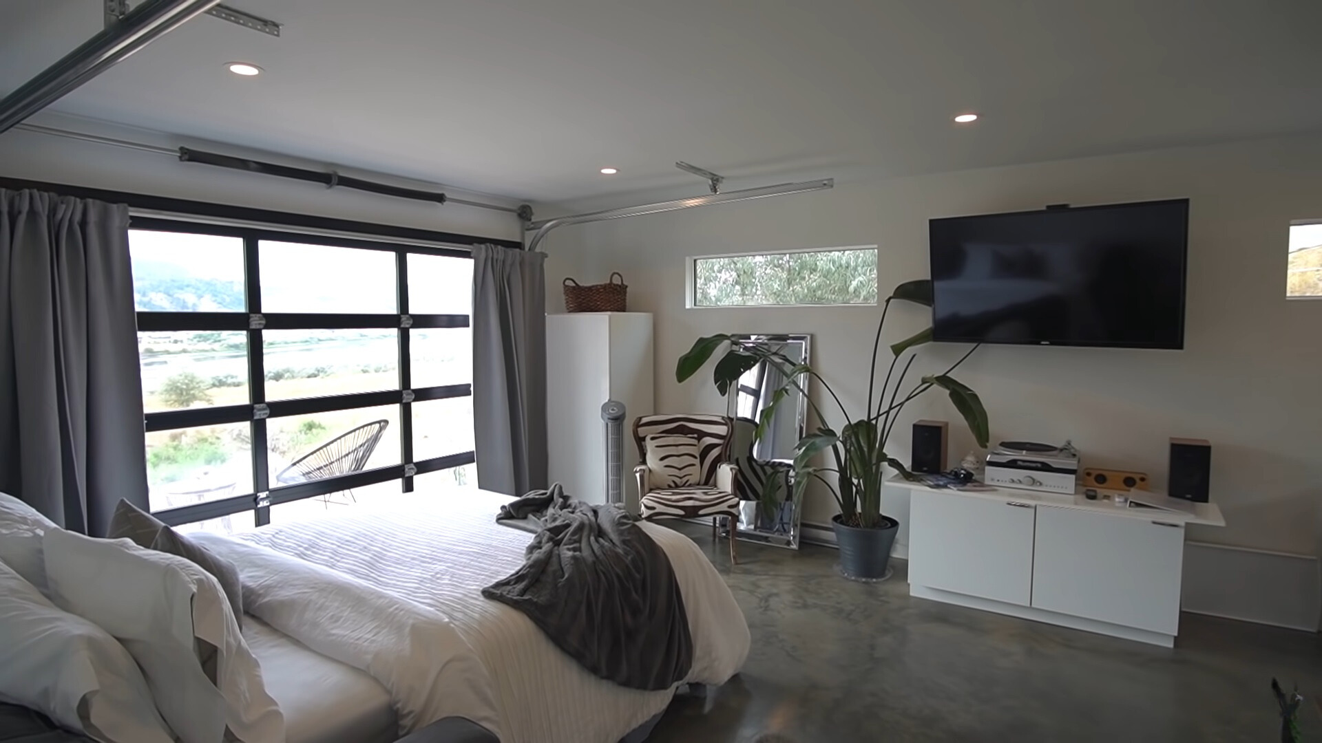
M 490 493 L 402 494 L 389 510 L 357 508 L 315 521 L 274 524 L 239 538 L 330 567 L 448 617 L 492 684 L 498 724 L 464 717 L 486 724 L 505 743 L 616 743 L 664 710 L 674 690 L 642 691 L 600 680 L 553 645 L 526 616 L 481 598 L 481 587 L 522 565 L 531 538 L 494 522 L 496 510 L 508 500 Z M 683 595 L 694 644 L 686 681 L 724 684 L 748 654 L 743 612 L 691 539 L 664 526 L 642 528 L 670 558 Z M 247 574 L 243 582 L 246 600 Z M 291 623 L 282 627 L 263 616 L 262 606 L 249 611 L 325 652 Z M 362 611 L 383 607 L 369 604 Z M 305 613 L 300 621 L 317 620 L 316 612 Z M 370 668 L 364 670 L 382 681 Z

